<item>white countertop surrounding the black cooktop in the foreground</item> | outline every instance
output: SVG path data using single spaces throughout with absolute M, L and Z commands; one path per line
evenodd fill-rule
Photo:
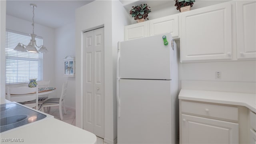
M 95 144 L 97 139 L 91 132 L 57 120 L 53 116 L 1 132 L 0 137 L 1 144 Z

